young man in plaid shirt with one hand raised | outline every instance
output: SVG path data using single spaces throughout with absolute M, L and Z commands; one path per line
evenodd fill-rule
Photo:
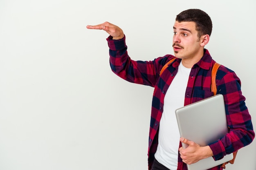
M 212 23 L 207 13 L 189 9 L 177 15 L 173 26 L 175 60 L 161 75 L 163 66 L 174 58 L 165 55 L 153 61 L 131 60 L 123 31 L 109 22 L 88 29 L 103 29 L 110 34 L 110 66 L 119 77 L 155 88 L 153 94 L 149 146 L 149 170 L 186 170 L 186 163 L 207 157 L 218 160 L 252 142 L 255 137 L 251 116 L 245 106 L 240 79 L 234 71 L 220 66 L 216 75 L 217 94 L 222 94 L 230 132 L 222 139 L 199 146 L 180 138 L 175 109 L 213 96 L 211 71 L 215 61 L 204 46 L 209 42 Z M 188 144 L 184 149 L 181 142 Z M 221 165 L 211 170 L 222 170 Z

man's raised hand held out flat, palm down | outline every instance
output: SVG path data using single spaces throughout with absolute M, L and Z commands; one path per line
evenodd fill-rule
M 106 31 L 109 35 L 113 37 L 113 40 L 119 40 L 124 38 L 124 32 L 122 29 L 120 29 L 118 26 L 111 24 L 109 22 L 104 22 L 99 25 L 88 25 L 86 26 L 87 29 L 102 29 Z

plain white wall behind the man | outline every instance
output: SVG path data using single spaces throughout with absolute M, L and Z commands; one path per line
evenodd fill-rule
M 134 60 L 171 48 L 175 16 L 206 11 L 213 58 L 242 81 L 256 126 L 255 0 L 1 0 L 0 170 L 146 170 L 153 88 L 110 70 L 104 31 L 120 26 Z M 255 170 L 256 142 L 227 170 Z M 246 166 L 245 166 L 246 165 Z M 246 167 L 246 168 L 245 168 Z

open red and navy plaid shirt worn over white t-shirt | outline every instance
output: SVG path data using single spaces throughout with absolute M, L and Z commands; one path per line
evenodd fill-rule
M 152 101 L 150 130 L 148 139 L 148 169 L 151 169 L 158 144 L 159 121 L 163 113 L 164 96 L 175 77 L 180 59 L 159 73 L 162 67 L 171 60 L 173 55 L 158 57 L 153 61 L 133 61 L 127 53 L 125 37 L 121 40 L 107 38 L 110 48 L 110 66 L 112 71 L 128 82 L 144 84 L 155 88 Z M 209 51 L 204 49 L 202 59 L 191 68 L 188 86 L 186 88 L 184 106 L 213 96 L 211 92 L 211 70 L 213 64 Z M 244 146 L 254 139 L 251 116 L 245 106 L 245 97 L 240 88 L 240 79 L 234 71 L 220 66 L 216 75 L 217 94 L 222 94 L 225 100 L 227 123 L 230 132 L 225 137 L 209 144 L 213 151 L 213 159 L 218 160 Z M 181 143 L 180 143 L 181 146 Z M 178 152 L 178 148 L 177 148 Z M 187 170 L 186 164 L 178 156 L 177 170 Z M 211 170 L 222 170 L 220 166 Z

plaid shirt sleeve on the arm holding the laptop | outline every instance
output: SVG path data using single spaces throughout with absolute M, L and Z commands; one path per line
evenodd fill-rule
M 217 72 L 216 83 L 217 94 L 224 96 L 229 127 L 227 135 L 209 144 L 213 151 L 213 159 L 219 160 L 225 155 L 249 145 L 253 141 L 255 133 L 237 75 L 228 68 L 221 66 Z

